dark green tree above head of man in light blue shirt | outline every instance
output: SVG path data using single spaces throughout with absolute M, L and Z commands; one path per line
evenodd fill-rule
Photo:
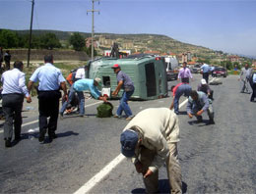
M 61 44 L 54 33 L 45 33 L 40 36 L 40 47 L 52 50 L 53 48 L 61 48 Z

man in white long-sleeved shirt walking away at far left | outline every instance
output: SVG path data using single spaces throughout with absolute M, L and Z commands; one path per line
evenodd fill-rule
M 22 73 L 23 67 L 23 63 L 17 61 L 14 63 L 14 69 L 3 73 L 1 78 L 1 81 L 3 82 L 2 105 L 5 115 L 4 139 L 6 147 L 12 146 L 13 124 L 15 129 L 15 140 L 21 140 L 24 95 L 26 96 L 28 103 L 32 102 L 25 82 L 25 73 Z

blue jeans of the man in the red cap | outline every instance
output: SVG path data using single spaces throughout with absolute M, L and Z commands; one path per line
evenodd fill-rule
M 130 109 L 130 107 L 128 106 L 128 100 L 130 99 L 130 97 L 133 95 L 134 89 L 132 91 L 124 91 L 122 98 L 120 99 L 120 104 L 119 107 L 116 111 L 116 115 L 117 116 L 121 116 L 122 112 L 124 111 L 126 117 L 131 117 L 132 111 Z

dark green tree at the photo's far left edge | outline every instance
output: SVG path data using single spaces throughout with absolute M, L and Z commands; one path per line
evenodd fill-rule
M 15 32 L 9 29 L 0 31 L 0 44 L 3 48 L 15 48 L 18 46 L 18 36 Z

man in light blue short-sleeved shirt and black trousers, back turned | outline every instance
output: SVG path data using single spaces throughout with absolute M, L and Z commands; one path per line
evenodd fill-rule
M 39 67 L 32 73 L 29 81 L 29 91 L 34 82 L 39 82 L 37 93 L 39 103 L 39 142 L 44 141 L 48 129 L 49 141 L 56 138 L 57 121 L 59 115 L 60 88 L 64 92 L 63 98 L 67 98 L 65 78 L 59 69 L 53 66 L 53 56 L 44 56 L 44 66 Z M 47 118 L 50 117 L 49 123 Z

